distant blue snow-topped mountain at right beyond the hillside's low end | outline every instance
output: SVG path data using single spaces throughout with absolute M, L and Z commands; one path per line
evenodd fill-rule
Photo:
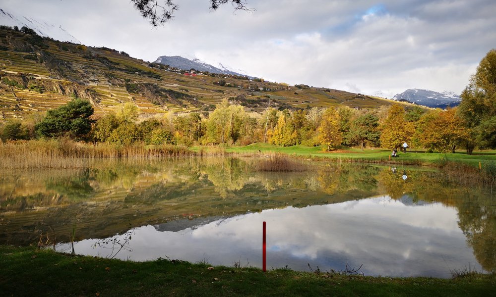
M 393 100 L 405 100 L 419 105 L 438 108 L 457 106 L 461 102 L 460 96 L 451 91 L 438 93 L 422 89 L 408 89 L 403 93 L 394 95 Z

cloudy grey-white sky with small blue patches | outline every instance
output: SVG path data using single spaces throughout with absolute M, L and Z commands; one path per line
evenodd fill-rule
M 165 0 L 159 0 L 165 1 Z M 409 88 L 457 94 L 496 48 L 494 0 L 247 0 L 251 13 L 208 0 L 153 28 L 129 0 L 2 0 L 61 25 L 81 43 L 154 61 L 196 57 L 253 76 L 392 97 Z

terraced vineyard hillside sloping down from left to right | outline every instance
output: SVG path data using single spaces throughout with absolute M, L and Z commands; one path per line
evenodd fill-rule
M 247 77 L 184 71 L 130 57 L 125 52 L 43 38 L 0 27 L 0 119 L 25 118 L 68 102 L 89 99 L 95 113 L 134 102 L 142 117 L 167 111 L 212 110 L 223 98 L 261 111 L 328 107 L 369 108 L 394 101 L 349 92 L 300 88 Z

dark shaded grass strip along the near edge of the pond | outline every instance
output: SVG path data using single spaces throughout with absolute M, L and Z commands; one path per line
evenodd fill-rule
M 0 246 L 1 296 L 496 296 L 495 275 L 389 278 L 129 262 Z

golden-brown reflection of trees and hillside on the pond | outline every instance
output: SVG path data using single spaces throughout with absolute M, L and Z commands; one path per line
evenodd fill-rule
M 455 207 L 477 260 L 495 270 L 496 203 L 485 189 L 419 167 L 308 162 L 311 169 L 304 172 L 256 172 L 257 160 L 185 158 L 6 172 L 0 179 L 0 244 L 30 244 L 50 228 L 66 238 L 74 220 L 79 239 L 108 238 L 182 217 L 230 217 L 387 195 Z

